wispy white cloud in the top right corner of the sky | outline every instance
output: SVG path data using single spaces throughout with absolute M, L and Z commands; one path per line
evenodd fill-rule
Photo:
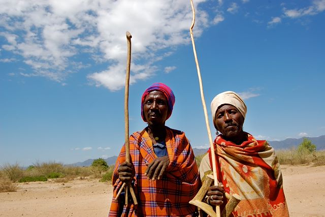
M 302 16 L 316 15 L 325 10 L 325 0 L 315 0 L 309 7 L 301 9 L 283 8 L 284 15 L 290 18 L 299 18 Z

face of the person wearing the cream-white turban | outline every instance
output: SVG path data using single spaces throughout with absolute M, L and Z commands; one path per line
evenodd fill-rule
M 235 106 L 222 105 L 215 113 L 214 123 L 227 138 L 236 138 L 243 131 L 244 117 Z

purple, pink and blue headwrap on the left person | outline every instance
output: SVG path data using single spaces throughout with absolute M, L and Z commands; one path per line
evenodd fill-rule
M 141 98 L 141 117 L 144 121 L 145 117 L 143 115 L 143 104 L 144 104 L 144 100 L 146 99 L 146 97 L 148 96 L 149 92 L 153 91 L 153 90 L 158 90 L 164 93 L 166 99 L 167 99 L 167 103 L 168 103 L 168 114 L 167 114 L 167 118 L 166 120 L 172 115 L 172 111 L 173 111 L 173 106 L 175 104 L 175 95 L 173 93 L 173 90 L 167 86 L 166 84 L 163 83 L 153 83 L 151 86 L 149 86 L 143 93 L 142 98 Z M 147 122 L 147 121 L 146 121 Z

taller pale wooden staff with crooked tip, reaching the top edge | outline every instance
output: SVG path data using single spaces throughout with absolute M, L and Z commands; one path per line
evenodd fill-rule
M 209 118 L 208 118 L 207 106 L 206 106 L 205 99 L 204 99 L 203 85 L 202 85 L 202 79 L 201 79 L 201 72 L 200 72 L 200 67 L 199 67 L 199 61 L 198 61 L 197 51 L 196 51 L 196 48 L 195 48 L 194 37 L 193 37 L 193 32 L 192 32 L 192 28 L 193 28 L 194 22 L 195 22 L 195 10 L 194 10 L 194 6 L 193 6 L 193 1 L 190 0 L 190 2 L 191 2 L 191 7 L 192 7 L 193 18 L 192 18 L 192 25 L 189 28 L 189 32 L 190 32 L 190 35 L 191 35 L 191 41 L 192 41 L 192 47 L 193 47 L 193 52 L 194 52 L 195 63 L 197 65 L 197 71 L 198 71 L 198 77 L 199 77 L 199 83 L 200 83 L 200 91 L 201 91 L 201 99 L 202 99 L 202 104 L 203 104 L 205 122 L 206 122 L 207 130 L 208 130 L 208 136 L 209 136 L 209 142 L 210 142 L 210 149 L 211 149 L 211 153 L 212 153 L 211 154 L 211 158 L 212 158 L 212 171 L 213 171 L 214 185 L 218 185 L 218 177 L 217 177 L 217 169 L 216 169 L 216 159 L 215 159 L 215 154 L 213 154 L 214 145 L 213 145 L 212 136 L 211 136 L 211 130 L 210 130 L 210 125 L 209 125 Z M 220 206 L 216 206 L 216 216 L 217 217 L 220 217 Z

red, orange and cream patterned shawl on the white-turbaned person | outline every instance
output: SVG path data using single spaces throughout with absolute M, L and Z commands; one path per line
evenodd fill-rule
M 265 140 L 255 140 L 249 134 L 247 138 L 241 145 L 224 140 L 222 135 L 214 141 L 218 177 L 222 177 L 225 192 L 243 198 L 233 215 L 289 216 L 274 149 Z M 208 152 L 212 165 L 211 150 Z

